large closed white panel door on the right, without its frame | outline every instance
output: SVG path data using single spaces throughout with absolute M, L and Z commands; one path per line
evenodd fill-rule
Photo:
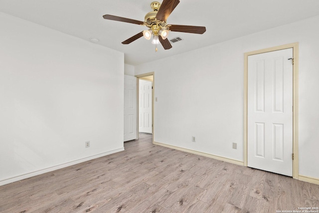
M 293 175 L 293 48 L 248 56 L 248 167 Z

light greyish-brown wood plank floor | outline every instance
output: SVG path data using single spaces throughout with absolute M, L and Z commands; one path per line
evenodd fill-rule
M 319 207 L 319 185 L 152 144 L 0 187 L 1 213 L 276 213 Z

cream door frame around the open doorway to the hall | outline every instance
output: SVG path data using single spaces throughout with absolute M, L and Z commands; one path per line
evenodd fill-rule
M 155 72 L 148 72 L 148 73 L 144 73 L 141 75 L 136 75 L 135 77 L 137 77 L 137 132 L 138 132 L 138 138 L 139 138 L 139 119 L 140 119 L 140 112 L 139 112 L 139 104 L 140 104 L 140 78 L 146 77 L 146 76 L 150 76 L 153 75 L 153 89 L 152 89 L 152 134 L 153 134 L 153 138 L 152 138 L 152 143 L 154 144 L 154 90 L 155 90 Z

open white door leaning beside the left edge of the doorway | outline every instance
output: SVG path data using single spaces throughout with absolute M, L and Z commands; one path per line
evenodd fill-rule
M 136 77 L 124 75 L 124 141 L 137 139 Z

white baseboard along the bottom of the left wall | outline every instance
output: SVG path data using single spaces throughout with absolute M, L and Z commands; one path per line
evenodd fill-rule
M 124 147 L 120 148 L 120 149 L 112 150 L 112 151 L 109 151 L 109 152 L 101 153 L 101 154 L 98 154 L 98 155 L 93 155 L 93 156 L 90 156 L 90 157 L 87 157 L 87 158 L 82 158 L 82 159 L 79 159 L 79 160 L 76 160 L 76 161 L 71 161 L 71 162 L 68 162 L 68 163 L 65 163 L 65 164 L 60 164 L 60 165 L 57 165 L 57 166 L 54 166 L 54 167 L 49 167 L 49 168 L 38 170 L 38 171 L 35 171 L 35 172 L 31 172 L 31 173 L 19 175 L 19 176 L 16 176 L 16 177 L 8 178 L 8 179 L 5 179 L 5 180 L 1 180 L 0 181 L 0 186 L 6 185 L 6 184 L 10 184 L 10 183 L 13 183 L 13 182 L 16 182 L 16 181 L 21 181 L 23 179 L 31 178 L 31 177 L 34 177 L 34 176 L 37 176 L 37 175 L 41 175 L 41 174 L 44 174 L 44 173 L 47 173 L 47 172 L 52 172 L 54 170 L 58 170 L 58 169 L 62 169 L 62 168 L 65 168 L 65 167 L 73 166 L 75 164 L 79 164 L 79 163 L 82 163 L 82 162 L 85 162 L 85 161 L 90 161 L 92 159 L 101 158 L 101 157 L 104 157 L 104 156 L 107 156 L 107 155 L 111 155 L 111 154 L 114 154 L 114 153 L 117 153 L 117 152 L 121 152 L 121 151 L 124 151 Z

